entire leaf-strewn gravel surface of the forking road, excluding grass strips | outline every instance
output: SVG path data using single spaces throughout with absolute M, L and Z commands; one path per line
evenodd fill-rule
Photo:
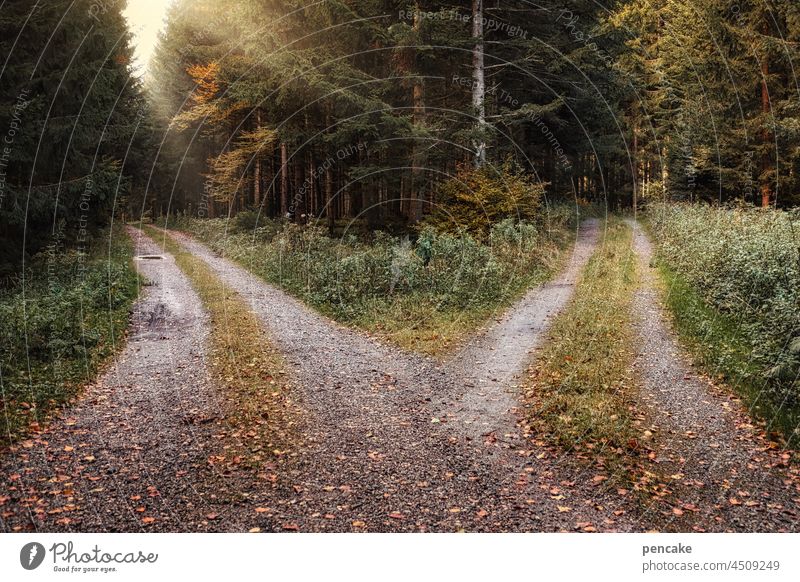
M 136 305 L 128 346 L 62 419 L 0 458 L 2 529 L 643 531 L 663 524 L 662 510 L 651 515 L 635 496 L 619 495 L 596 467 L 531 440 L 517 414 L 516 379 L 602 244 L 602 222 L 581 226 L 561 275 L 445 361 L 333 323 L 190 237 L 169 234 L 249 305 L 283 353 L 303 416 L 294 443 L 276 452 L 279 469 L 213 462 L 226 387 L 207 373 L 208 316 L 172 257 L 137 232 L 137 253 L 162 258 L 137 263 L 153 284 Z M 637 231 L 644 269 L 643 236 Z M 800 495 L 788 457 L 735 400 L 691 373 L 652 280 L 635 304 L 642 393 L 663 451 L 653 462 L 676 475 L 672 495 L 680 500 L 670 528 L 796 529 Z

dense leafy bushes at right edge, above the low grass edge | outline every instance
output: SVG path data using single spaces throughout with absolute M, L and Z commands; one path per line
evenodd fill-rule
M 660 256 L 736 327 L 749 348 L 748 362 L 735 357 L 735 350 L 720 352 L 719 368 L 766 385 L 778 405 L 797 406 L 800 215 L 654 204 L 649 216 Z M 696 322 L 695 328 L 713 324 Z

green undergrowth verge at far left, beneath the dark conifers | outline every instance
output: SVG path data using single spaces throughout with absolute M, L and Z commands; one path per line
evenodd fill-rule
M 0 443 L 39 430 L 124 344 L 139 284 L 132 253 L 116 227 L 85 254 L 46 251 L 24 284 L 0 292 Z

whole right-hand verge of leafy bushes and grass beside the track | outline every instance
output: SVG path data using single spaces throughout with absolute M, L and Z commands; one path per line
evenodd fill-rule
M 649 220 L 678 331 L 712 373 L 796 436 L 800 215 L 659 204 Z

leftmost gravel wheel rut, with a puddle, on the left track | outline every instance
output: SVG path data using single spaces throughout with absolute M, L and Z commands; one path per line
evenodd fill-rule
M 221 409 L 208 316 L 174 259 L 128 232 L 151 258 L 136 259 L 148 285 L 127 344 L 61 418 L 0 457 L 2 530 L 203 531 L 237 495 L 206 461 Z

